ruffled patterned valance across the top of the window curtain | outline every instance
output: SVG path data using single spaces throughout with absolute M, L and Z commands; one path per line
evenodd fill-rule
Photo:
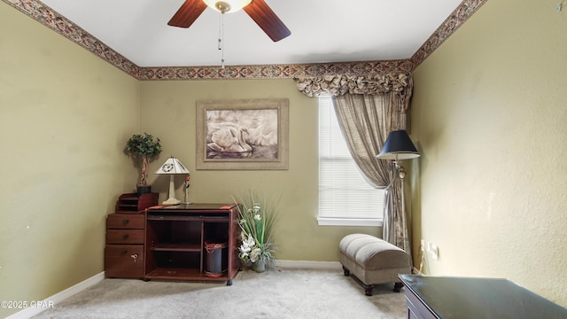
M 307 97 L 339 97 L 346 93 L 374 95 L 388 92 L 405 96 L 411 92 L 413 86 L 410 74 L 302 76 L 294 80 L 299 91 Z

